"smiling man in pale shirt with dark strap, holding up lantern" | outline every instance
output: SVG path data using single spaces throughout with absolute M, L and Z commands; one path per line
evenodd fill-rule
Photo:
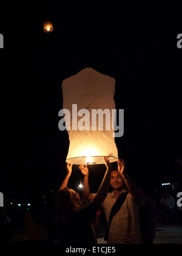
M 108 244 L 141 244 L 139 205 L 140 195 L 129 176 L 126 175 L 124 160 L 118 160 L 118 170 L 111 172 L 110 185 L 112 193 L 108 193 L 103 202 L 107 223 L 110 211 L 120 194 L 129 191 L 120 210 L 113 216 L 109 227 Z M 79 166 L 84 174 L 83 197 L 92 200 L 90 193 L 89 170 L 86 165 Z

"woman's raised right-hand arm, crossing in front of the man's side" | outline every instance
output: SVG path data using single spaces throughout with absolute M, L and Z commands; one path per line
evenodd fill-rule
M 108 160 L 109 157 L 104 157 L 105 165 L 107 167 L 106 174 L 104 175 L 104 179 L 96 193 L 96 196 L 92 199 L 91 203 L 100 206 L 104 199 L 107 196 L 109 185 L 110 185 L 110 172 L 112 171 L 112 167 Z

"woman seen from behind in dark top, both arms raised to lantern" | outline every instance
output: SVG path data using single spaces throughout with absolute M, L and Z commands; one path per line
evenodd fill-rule
M 58 243 L 61 244 L 95 244 L 92 220 L 98 208 L 107 196 L 110 184 L 111 165 L 108 157 L 104 157 L 106 174 L 98 193 L 89 204 L 81 208 L 81 199 L 76 191 L 67 188 L 72 174 L 72 164 L 67 164 L 67 174 L 59 191 L 55 195 L 55 206 L 58 214 Z M 84 174 L 84 173 L 83 173 Z M 88 174 L 87 174 L 88 175 Z M 84 177 L 87 179 L 87 175 Z

